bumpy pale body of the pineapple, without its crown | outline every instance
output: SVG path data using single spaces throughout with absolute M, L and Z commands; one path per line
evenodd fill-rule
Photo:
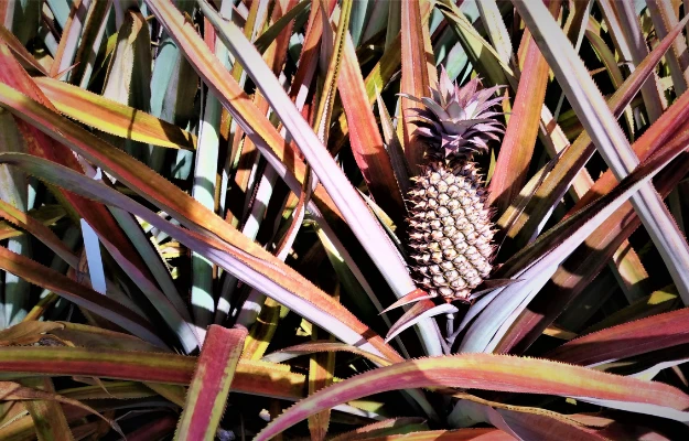
M 419 288 L 469 302 L 493 269 L 492 211 L 475 164 L 431 161 L 409 192 L 409 248 Z

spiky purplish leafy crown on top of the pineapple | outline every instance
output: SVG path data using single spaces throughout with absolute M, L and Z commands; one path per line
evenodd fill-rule
M 492 108 L 504 98 L 491 98 L 503 86 L 478 89 L 480 78 L 473 78 L 459 87 L 444 67 L 441 67 L 439 87 L 431 88 L 432 97 L 403 97 L 422 104 L 424 108 L 412 109 L 419 120 L 417 135 L 423 138 L 434 152 L 432 155 L 471 158 L 478 151 L 487 151 L 486 139 L 498 140 L 503 125 L 495 119 L 499 111 Z

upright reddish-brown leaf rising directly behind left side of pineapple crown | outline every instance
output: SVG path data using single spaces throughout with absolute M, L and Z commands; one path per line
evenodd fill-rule
M 427 0 L 402 0 L 401 6 L 401 60 L 402 79 L 400 93 L 417 98 L 428 96 L 430 93 L 430 78 L 428 72 L 428 57 L 431 53 L 426 52 L 424 33 L 428 29 L 422 24 L 421 3 Z M 419 166 L 423 163 L 423 142 L 415 135 L 416 125 L 409 110 L 417 104 L 408 98 L 402 98 L 402 128 L 405 135 L 405 155 L 413 175 L 419 174 Z

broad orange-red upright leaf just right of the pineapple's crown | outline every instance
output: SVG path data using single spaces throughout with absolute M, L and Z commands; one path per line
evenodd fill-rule
M 551 0 L 548 9 L 557 15 L 560 1 Z M 515 201 L 526 182 L 550 71 L 528 30 L 521 37 L 519 53 L 524 57 L 524 68 L 489 186 L 488 202 L 498 213 Z

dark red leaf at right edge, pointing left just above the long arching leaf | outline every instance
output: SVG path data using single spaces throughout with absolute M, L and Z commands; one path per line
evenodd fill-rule
M 591 366 L 686 343 L 689 343 L 689 308 L 574 338 L 546 356 Z

